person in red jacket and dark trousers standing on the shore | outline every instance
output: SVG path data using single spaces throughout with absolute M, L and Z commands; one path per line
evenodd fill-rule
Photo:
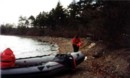
M 76 35 L 72 39 L 72 46 L 73 46 L 73 51 L 74 52 L 78 52 L 79 51 L 79 47 L 81 46 L 81 40 L 80 40 L 78 35 Z

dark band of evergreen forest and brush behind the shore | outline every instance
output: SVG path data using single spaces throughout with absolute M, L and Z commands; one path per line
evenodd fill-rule
M 50 12 L 19 17 L 17 27 L 1 25 L 1 34 L 26 36 L 90 37 L 115 47 L 130 46 L 130 1 L 73 0 L 67 8 L 60 2 Z

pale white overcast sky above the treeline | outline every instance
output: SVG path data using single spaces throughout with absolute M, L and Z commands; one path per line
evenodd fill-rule
M 0 24 L 17 24 L 20 16 L 49 12 L 58 1 L 66 8 L 73 0 L 0 0 Z

